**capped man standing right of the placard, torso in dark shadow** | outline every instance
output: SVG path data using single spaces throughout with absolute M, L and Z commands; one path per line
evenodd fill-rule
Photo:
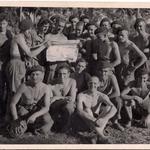
M 95 30 L 97 39 L 93 41 L 93 59 L 97 61 L 97 67 L 101 61 L 110 61 L 112 67 L 120 64 L 121 58 L 118 44 L 110 41 L 108 38 L 108 30 L 101 27 Z

